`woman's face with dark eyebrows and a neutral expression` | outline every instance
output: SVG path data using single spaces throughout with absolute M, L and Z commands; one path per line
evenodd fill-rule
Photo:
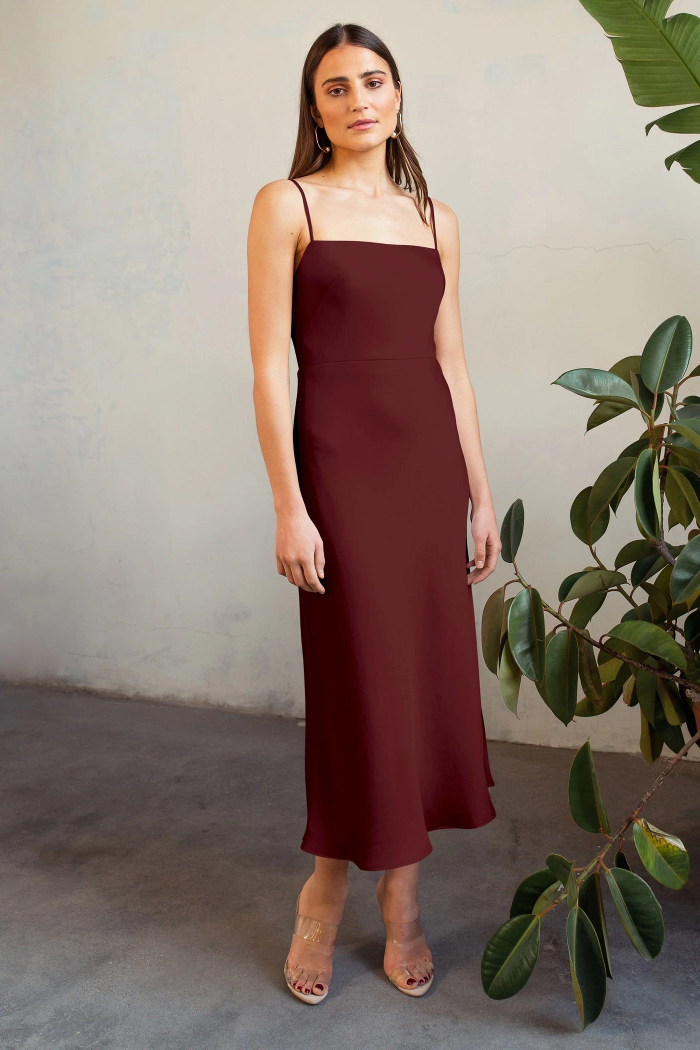
M 401 87 L 394 86 L 386 62 L 375 51 L 353 44 L 332 48 L 319 63 L 314 86 L 312 113 L 334 146 L 372 149 L 396 129 Z

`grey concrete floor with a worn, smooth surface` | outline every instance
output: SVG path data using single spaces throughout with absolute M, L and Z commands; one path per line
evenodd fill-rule
M 298 723 L 14 687 L 0 696 L 4 1050 L 697 1046 L 698 764 L 674 773 L 648 806 L 691 852 L 684 889 L 654 886 L 664 947 L 645 963 L 608 901 L 615 980 L 586 1032 L 563 908 L 525 989 L 502 1002 L 482 990 L 482 951 L 517 882 L 549 852 L 584 863 L 598 841 L 568 814 L 573 752 L 511 743 L 489 744 L 497 818 L 431 834 L 421 868 L 430 991 L 410 999 L 387 981 L 378 874 L 351 865 L 333 984 L 311 1007 L 282 979 L 313 864 L 299 848 Z M 613 754 L 596 764 L 618 825 L 660 765 Z

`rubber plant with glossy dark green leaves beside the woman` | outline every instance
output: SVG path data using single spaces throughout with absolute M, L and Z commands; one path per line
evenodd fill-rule
M 576 823 L 604 842 L 582 866 L 558 854 L 545 858 L 545 866 L 516 888 L 509 919 L 484 950 L 486 993 L 515 994 L 536 963 L 545 917 L 566 902 L 571 980 L 584 1028 L 600 1013 L 612 976 L 603 886 L 643 959 L 653 959 L 663 944 L 661 907 L 649 882 L 631 869 L 625 834 L 632 830 L 628 838 L 643 868 L 662 885 L 680 889 L 690 870 L 680 839 L 649 823 L 641 811 L 677 762 L 700 746 L 700 397 L 684 393 L 700 375 L 700 366 L 688 372 L 692 342 L 687 319 L 669 317 L 641 355 L 622 358 L 608 372 L 573 369 L 554 380 L 595 402 L 587 430 L 630 412 L 640 415 L 643 430 L 574 499 L 571 527 L 593 564 L 561 582 L 556 604 L 544 601 L 517 567 L 525 516 L 523 501 L 515 500 L 501 529 L 501 554 L 514 578 L 490 595 L 482 616 L 484 659 L 512 712 L 526 677 L 565 726 L 575 717 L 600 717 L 621 701 L 638 719 L 648 762 L 657 761 L 664 743 L 675 753 L 613 834 L 586 741 L 571 765 L 569 806 Z M 628 491 L 639 538 L 606 565 L 595 545 Z M 676 525 L 686 533 L 678 544 L 665 534 Z M 519 589 L 509 595 L 513 584 Z M 629 608 L 594 637 L 588 625 L 610 593 Z M 554 621 L 549 631 L 546 616 Z

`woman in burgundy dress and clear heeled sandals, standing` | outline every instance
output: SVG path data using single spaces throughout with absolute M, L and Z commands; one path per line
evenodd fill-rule
M 495 816 L 470 585 L 493 571 L 501 542 L 464 358 L 459 256 L 457 217 L 427 196 L 406 139 L 391 55 L 368 29 L 334 25 L 304 63 L 290 177 L 258 192 L 249 233 L 277 570 L 299 589 L 301 848 L 316 860 L 284 975 L 306 1003 L 328 991 L 351 860 L 383 870 L 384 970 L 423 994 L 427 833 Z

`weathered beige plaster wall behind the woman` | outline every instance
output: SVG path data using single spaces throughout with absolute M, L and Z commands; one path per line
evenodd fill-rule
M 659 110 L 635 106 L 576 0 L 1 0 L 0 15 L 2 675 L 303 714 L 246 235 L 257 189 L 288 174 L 306 48 L 338 20 L 394 49 L 406 132 L 458 213 L 496 511 L 524 500 L 519 568 L 554 602 L 589 562 L 571 501 L 639 427 L 584 437 L 590 402 L 552 380 L 640 352 L 674 313 L 700 334 L 700 187 L 662 163 L 686 140 L 645 138 Z M 636 534 L 630 497 L 613 524 L 603 558 Z M 476 587 L 480 615 L 508 575 Z M 565 730 L 528 684 L 517 720 L 482 672 L 490 737 L 636 750 L 636 712 Z

